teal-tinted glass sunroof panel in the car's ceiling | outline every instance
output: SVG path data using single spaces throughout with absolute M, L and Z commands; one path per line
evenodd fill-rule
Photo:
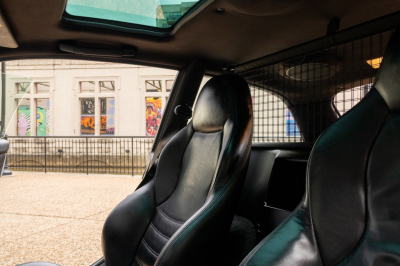
M 72 16 L 169 28 L 197 2 L 197 0 L 68 0 L 65 11 Z

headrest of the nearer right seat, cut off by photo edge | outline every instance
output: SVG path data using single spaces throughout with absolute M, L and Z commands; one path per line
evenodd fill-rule
M 400 112 L 400 29 L 393 33 L 386 46 L 374 86 L 389 109 Z

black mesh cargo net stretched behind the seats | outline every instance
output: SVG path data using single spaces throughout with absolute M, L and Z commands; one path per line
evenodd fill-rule
M 314 142 L 369 91 L 392 31 L 238 73 L 249 83 L 254 142 Z

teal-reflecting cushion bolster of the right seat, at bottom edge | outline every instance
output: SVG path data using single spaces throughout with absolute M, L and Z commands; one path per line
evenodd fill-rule
M 322 265 L 307 204 L 299 206 L 261 241 L 240 266 Z

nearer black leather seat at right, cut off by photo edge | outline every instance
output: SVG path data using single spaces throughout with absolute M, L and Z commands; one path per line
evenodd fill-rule
M 400 265 L 400 30 L 307 171 L 303 203 L 241 265 Z

